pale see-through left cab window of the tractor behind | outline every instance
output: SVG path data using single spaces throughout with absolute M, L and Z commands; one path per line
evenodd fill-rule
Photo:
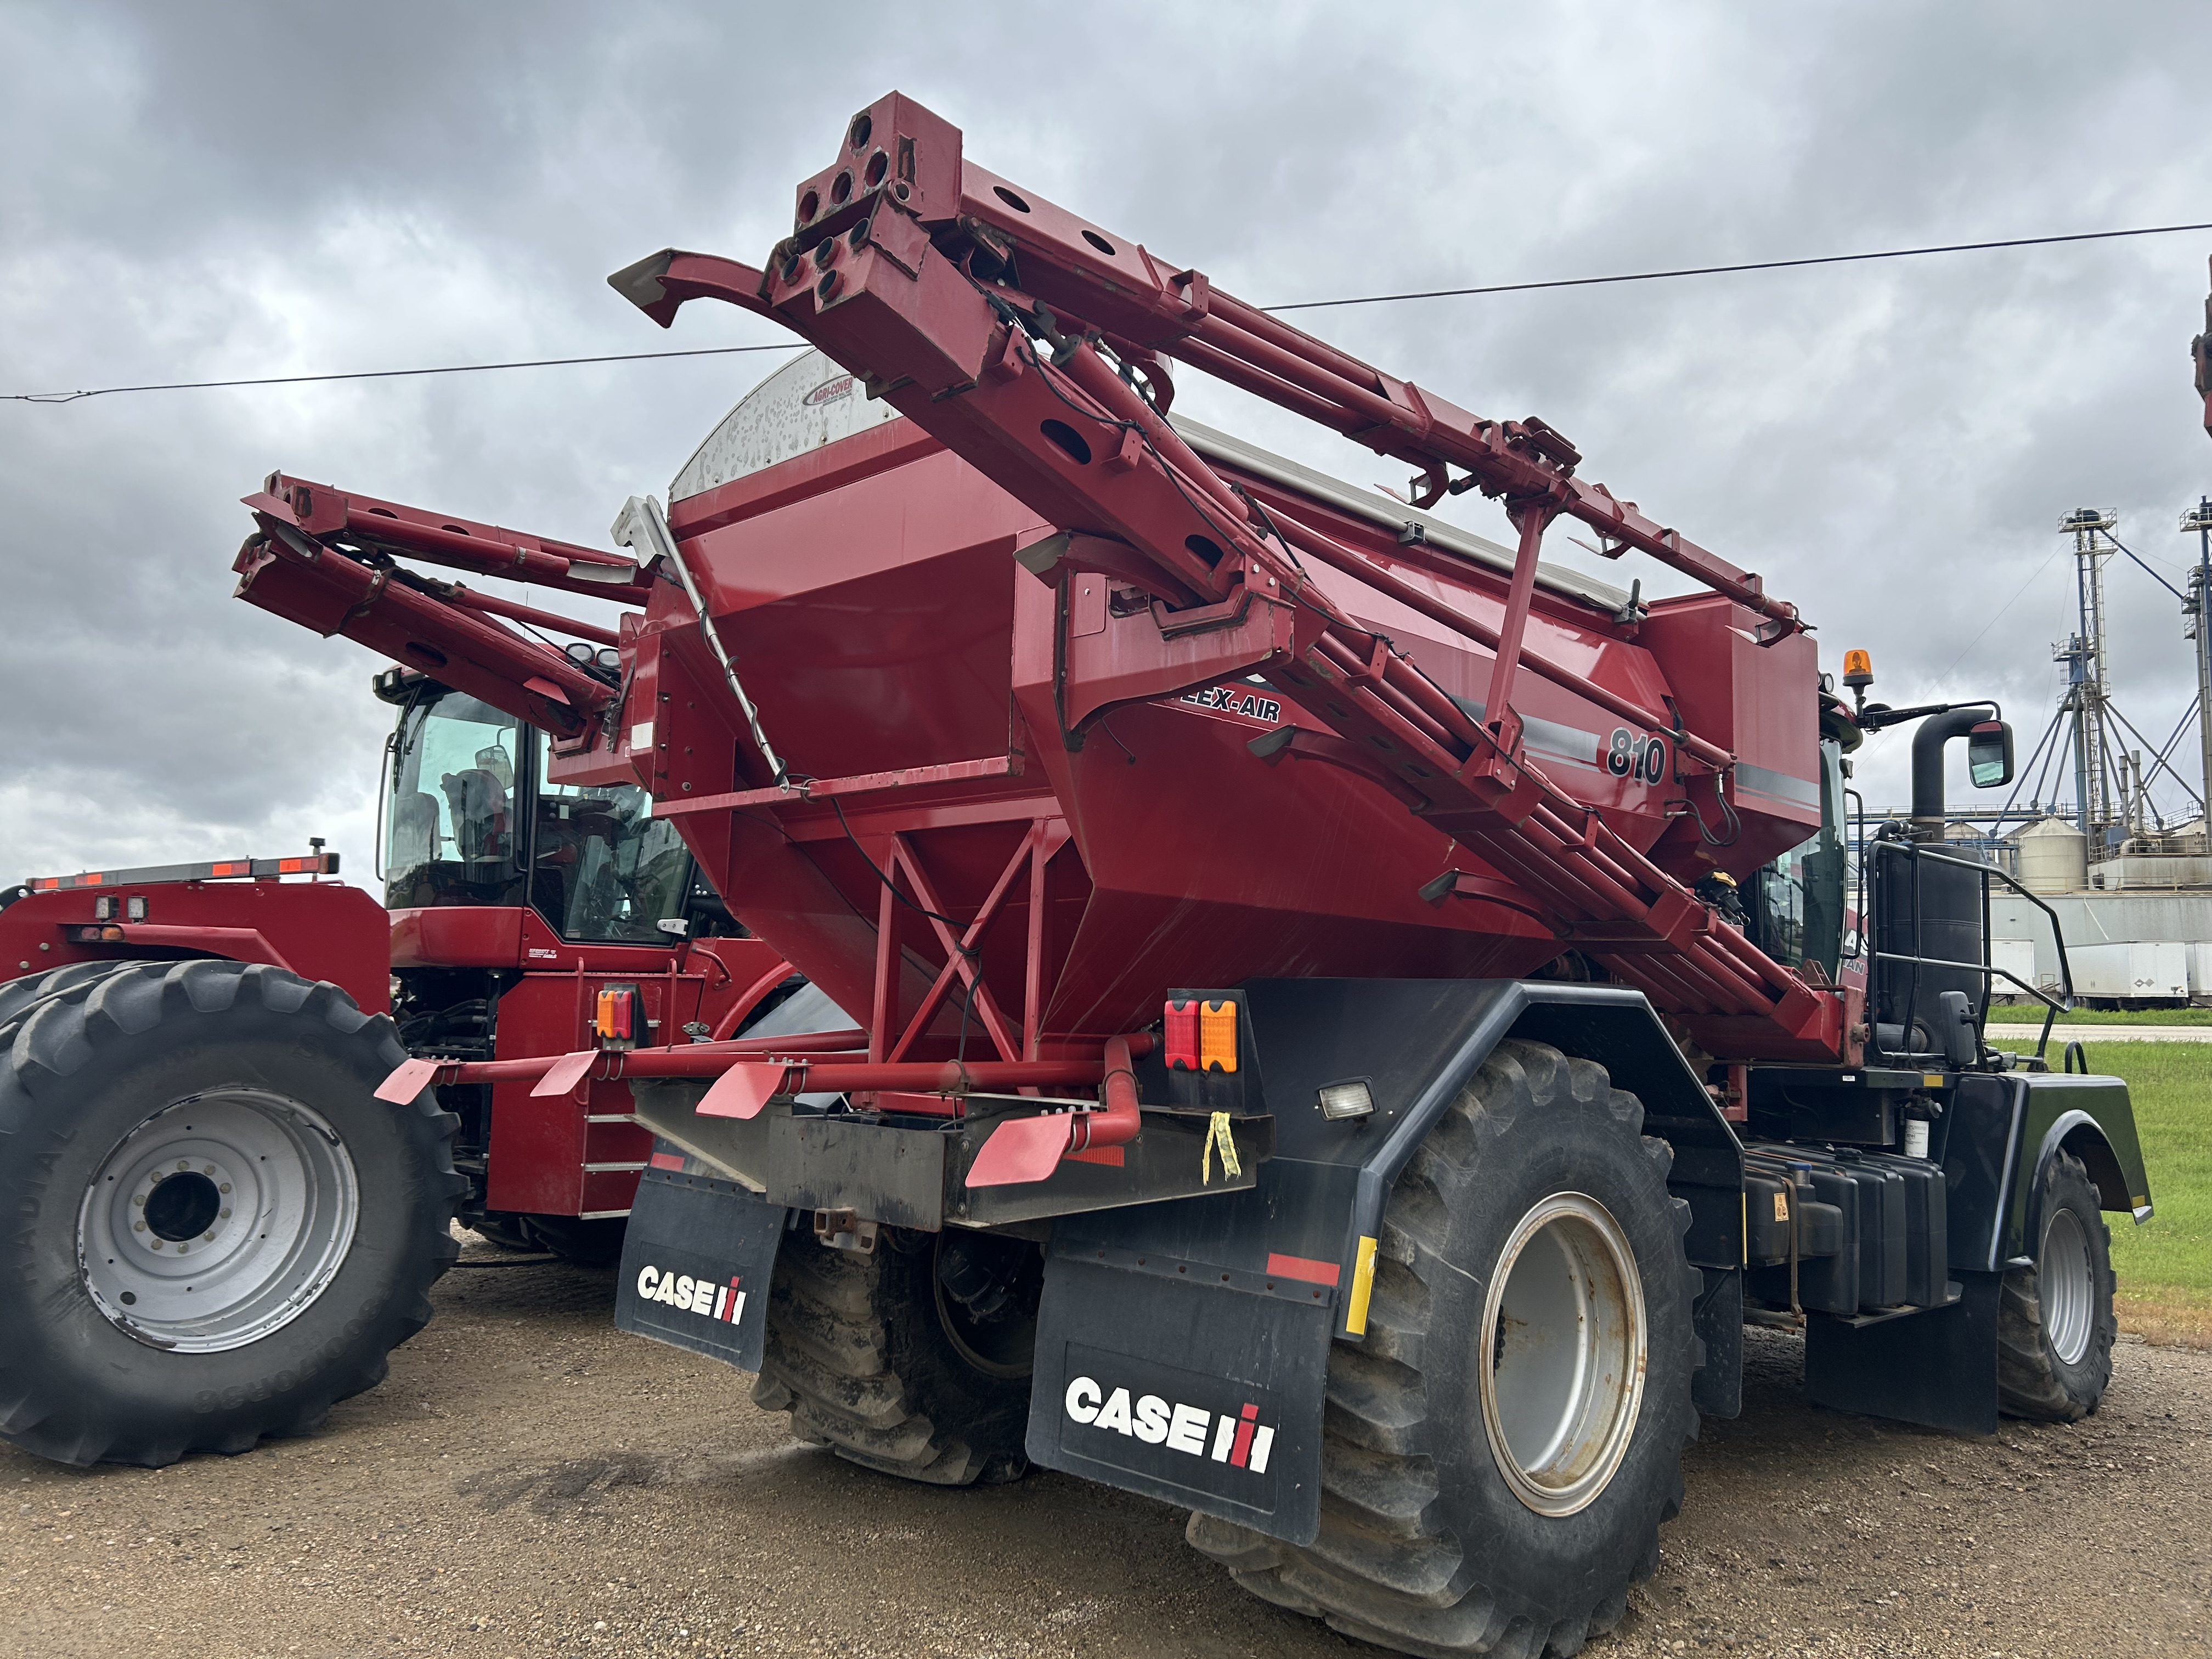
M 462 692 L 425 688 L 400 717 L 385 783 L 385 902 L 520 905 L 518 723 Z

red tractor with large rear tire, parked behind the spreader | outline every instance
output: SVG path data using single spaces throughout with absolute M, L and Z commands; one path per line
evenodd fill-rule
M 376 695 L 389 909 L 321 845 L 0 894 L 15 1444 L 161 1464 L 316 1427 L 429 1318 L 456 1208 L 611 1263 L 650 1152 L 619 1086 L 372 1091 L 407 1053 L 726 1037 L 787 995 L 644 790 L 553 783 L 542 732 L 416 670 Z

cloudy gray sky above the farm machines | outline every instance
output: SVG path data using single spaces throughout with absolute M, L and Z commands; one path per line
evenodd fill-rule
M 1261 303 L 2203 221 L 2208 51 L 2181 2 L 0 0 L 0 392 L 770 341 L 726 307 L 664 336 L 604 274 L 668 243 L 761 259 L 891 86 Z M 2194 553 L 2208 250 L 1305 321 L 1542 414 L 1586 476 L 1798 599 L 1825 666 L 1863 644 L 1891 701 L 2000 695 L 2028 743 L 2070 617 L 2057 518 L 2117 509 L 2177 582 Z M 604 542 L 776 361 L 0 403 L 0 878 L 310 834 L 365 872 L 378 664 L 228 597 L 237 498 L 283 467 Z M 1197 376 L 1183 398 L 1400 482 Z M 2177 604 L 2132 566 L 2110 586 L 2117 697 L 2163 741 L 2194 690 Z M 1902 801 L 1902 761 L 1874 748 L 1871 803 Z

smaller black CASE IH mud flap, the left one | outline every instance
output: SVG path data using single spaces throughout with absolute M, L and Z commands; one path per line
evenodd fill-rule
M 655 1141 L 622 1241 L 615 1325 L 759 1371 L 787 1217 L 781 1203 Z

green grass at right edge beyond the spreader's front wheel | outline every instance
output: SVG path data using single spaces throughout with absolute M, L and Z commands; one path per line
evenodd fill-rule
M 2095 1042 L 2093 1071 L 2128 1079 L 2157 1214 L 2110 1214 L 2121 1325 L 2212 1336 L 2212 1044 Z

